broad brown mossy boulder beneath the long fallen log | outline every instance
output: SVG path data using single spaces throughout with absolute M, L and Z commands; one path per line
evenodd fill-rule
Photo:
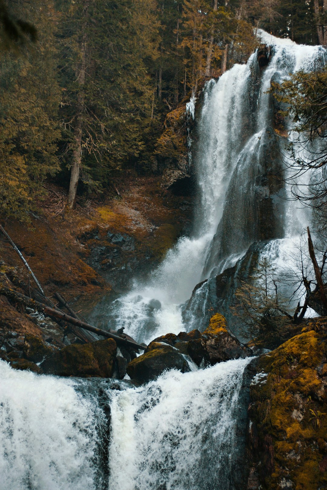
M 117 346 L 113 339 L 86 344 L 72 344 L 47 358 L 43 371 L 58 376 L 110 378 L 116 360 Z

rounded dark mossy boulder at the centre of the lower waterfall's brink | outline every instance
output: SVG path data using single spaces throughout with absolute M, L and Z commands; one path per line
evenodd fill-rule
M 190 371 L 185 357 L 177 349 L 170 345 L 161 345 L 133 359 L 127 365 L 127 374 L 138 383 L 147 383 L 169 369 Z

